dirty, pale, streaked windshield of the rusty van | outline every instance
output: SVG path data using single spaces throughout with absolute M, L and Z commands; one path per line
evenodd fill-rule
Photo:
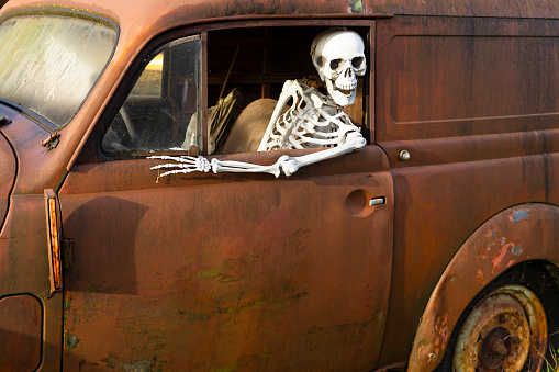
M 0 24 L 0 99 L 40 114 L 55 129 L 64 126 L 101 75 L 116 38 L 108 22 L 88 16 L 7 19 Z

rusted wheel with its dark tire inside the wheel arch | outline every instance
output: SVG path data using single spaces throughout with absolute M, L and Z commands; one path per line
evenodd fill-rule
M 551 370 L 559 341 L 554 274 L 526 262 L 488 284 L 458 319 L 436 371 Z

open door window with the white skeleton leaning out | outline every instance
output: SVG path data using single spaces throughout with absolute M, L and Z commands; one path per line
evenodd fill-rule
M 344 112 L 344 108 L 356 100 L 359 88 L 357 78 L 365 76 L 367 69 L 364 38 L 357 32 L 347 29 L 327 30 L 318 36 L 316 30 L 314 29 L 313 33 L 293 35 L 298 36 L 293 38 L 286 35 L 286 31 L 297 33 L 301 27 L 278 27 L 273 32 L 259 27 L 209 34 L 208 97 L 210 103 L 217 97 L 217 102 L 208 109 L 210 131 L 208 154 L 317 147 L 327 149 L 297 158 L 282 156 L 270 167 L 217 159 L 210 161 L 202 157 L 156 156 L 155 158 L 176 160 L 177 164 L 161 165 L 155 169 L 178 168 L 161 176 L 210 170 L 290 176 L 302 166 L 365 146 L 366 140 L 359 127 L 355 126 Z M 270 34 L 273 33 L 277 43 L 270 43 Z M 304 38 L 302 35 L 309 38 L 308 43 L 293 42 Z M 270 58 L 282 48 L 283 53 L 277 55 L 279 60 Z M 239 49 L 244 50 L 235 65 Z M 304 57 L 294 58 L 298 54 Z M 301 74 L 302 71 L 312 71 L 314 76 L 305 76 L 304 72 Z M 316 77 L 316 74 L 320 77 Z M 316 86 L 321 80 L 324 81 L 324 92 Z M 234 88 L 226 99 L 221 99 L 227 83 Z M 362 84 L 360 87 L 362 95 Z M 272 94 L 275 89 L 278 91 L 278 101 L 271 101 L 266 97 Z M 250 98 L 249 102 L 241 103 L 243 97 L 245 102 Z M 230 100 L 227 108 L 222 110 L 227 100 Z M 362 99 L 359 100 L 359 104 L 361 108 L 358 122 L 361 124 Z M 232 119 L 237 116 L 237 108 L 243 108 L 243 112 L 233 121 Z M 215 112 L 221 114 L 216 115 Z M 221 117 L 222 115 L 225 119 Z M 222 136 L 217 137 L 217 134 Z M 187 135 L 185 140 L 188 139 Z M 232 142 L 236 146 L 230 146 Z M 237 146 L 239 143 L 241 146 Z M 186 147 L 182 145 L 182 148 Z

